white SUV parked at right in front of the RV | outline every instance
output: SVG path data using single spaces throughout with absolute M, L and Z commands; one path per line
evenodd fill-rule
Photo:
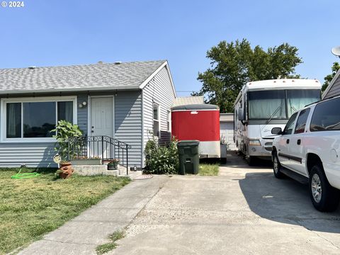
M 340 97 L 313 103 L 294 113 L 285 129 L 273 128 L 273 171 L 308 183 L 320 211 L 336 210 L 340 198 Z

